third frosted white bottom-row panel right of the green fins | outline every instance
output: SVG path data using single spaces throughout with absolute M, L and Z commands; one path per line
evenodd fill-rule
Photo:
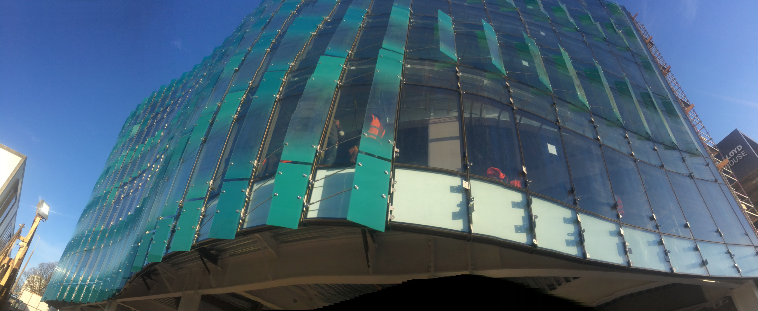
M 581 256 L 579 225 L 574 209 L 547 199 L 532 197 L 531 209 L 537 217 L 537 246 Z

